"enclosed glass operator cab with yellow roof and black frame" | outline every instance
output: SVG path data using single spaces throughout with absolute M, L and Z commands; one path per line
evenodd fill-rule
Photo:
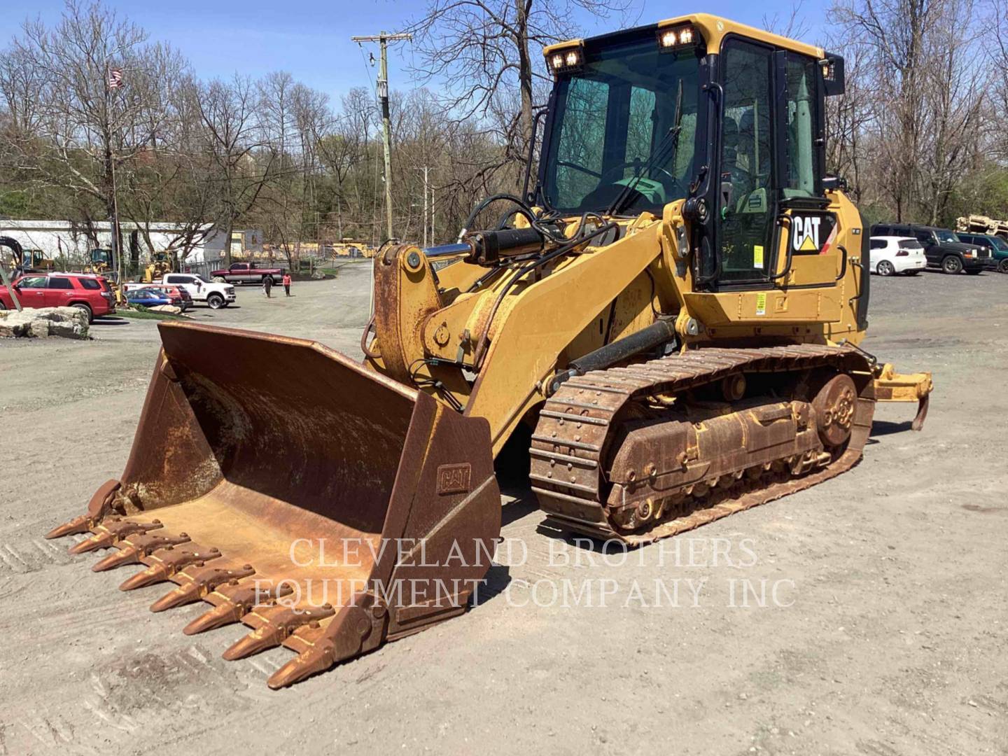
M 685 200 L 697 291 L 843 275 L 823 181 L 842 57 L 707 14 L 545 55 L 556 81 L 532 204 L 633 217 Z M 829 261 L 799 260 L 831 245 Z

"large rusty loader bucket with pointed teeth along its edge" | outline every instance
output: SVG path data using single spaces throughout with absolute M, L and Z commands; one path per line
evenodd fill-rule
M 186 633 L 243 622 L 224 655 L 284 645 L 279 687 L 465 611 L 500 532 L 486 420 L 320 344 L 161 324 L 121 480 L 47 537 L 204 601 Z

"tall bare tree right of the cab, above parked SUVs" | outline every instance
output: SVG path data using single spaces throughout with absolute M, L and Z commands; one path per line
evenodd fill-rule
M 987 67 L 970 40 L 973 0 L 841 0 L 833 10 L 855 38 L 871 117 L 853 135 L 871 154 L 875 182 L 897 220 L 938 223 L 982 136 Z

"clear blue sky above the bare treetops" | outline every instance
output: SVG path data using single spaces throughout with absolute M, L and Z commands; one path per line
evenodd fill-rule
M 202 78 L 230 77 L 238 71 L 253 77 L 270 71 L 287 71 L 295 80 L 326 92 L 334 100 L 355 86 L 371 86 L 376 70 L 366 66 L 354 34 L 392 31 L 422 14 L 426 0 L 106 0 L 106 4 L 143 26 L 155 39 L 171 42 L 192 61 Z M 46 23 L 57 21 L 60 0 L 4 0 L 0 14 L 0 44 L 20 30 L 27 17 L 41 15 Z M 818 36 L 826 0 L 805 0 L 802 14 L 811 29 L 808 41 Z M 761 25 L 764 16 L 790 14 L 792 0 L 720 0 L 715 5 L 688 5 L 667 0 L 638 0 L 639 23 L 650 23 L 691 9 Z M 585 34 L 609 31 L 618 20 L 599 21 L 579 12 Z M 631 19 L 632 20 L 632 19 Z M 389 69 L 393 89 L 415 86 L 406 70 L 408 43 L 390 48 Z M 370 77 L 370 78 L 369 78 Z

